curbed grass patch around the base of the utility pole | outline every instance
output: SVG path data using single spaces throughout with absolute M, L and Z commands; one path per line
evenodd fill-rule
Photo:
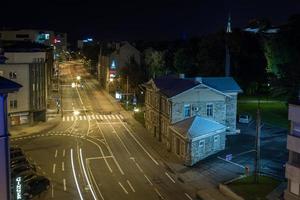
M 260 176 L 259 183 L 253 183 L 254 176 L 247 176 L 228 184 L 228 187 L 245 200 L 266 200 L 266 196 L 271 193 L 280 181 L 268 176 Z

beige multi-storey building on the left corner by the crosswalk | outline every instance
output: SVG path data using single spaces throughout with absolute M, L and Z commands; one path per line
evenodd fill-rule
M 4 47 L 2 56 L 5 61 L 0 64 L 0 76 L 23 85 L 18 92 L 8 95 L 10 124 L 45 121 L 52 51 L 34 43 L 23 43 Z

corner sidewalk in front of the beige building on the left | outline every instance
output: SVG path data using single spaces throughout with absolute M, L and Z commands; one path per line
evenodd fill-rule
M 9 133 L 11 135 L 11 138 L 16 137 L 24 137 L 28 135 L 34 135 L 38 133 L 47 132 L 54 127 L 56 127 L 60 122 L 59 118 L 50 120 L 48 122 L 39 122 L 35 123 L 33 125 L 25 124 L 20 126 L 12 126 L 9 128 Z

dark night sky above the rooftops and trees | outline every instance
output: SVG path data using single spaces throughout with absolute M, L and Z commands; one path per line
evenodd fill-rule
M 170 40 L 221 30 L 229 12 L 233 27 L 261 17 L 282 24 L 291 14 L 300 14 L 300 1 L 6 0 L 0 8 L 1 28 L 56 30 L 67 32 L 72 40 Z

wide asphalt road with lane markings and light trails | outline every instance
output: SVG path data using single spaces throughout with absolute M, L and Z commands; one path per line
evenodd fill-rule
M 62 65 L 61 81 L 61 123 L 12 141 L 51 180 L 38 199 L 193 199 L 80 63 Z

